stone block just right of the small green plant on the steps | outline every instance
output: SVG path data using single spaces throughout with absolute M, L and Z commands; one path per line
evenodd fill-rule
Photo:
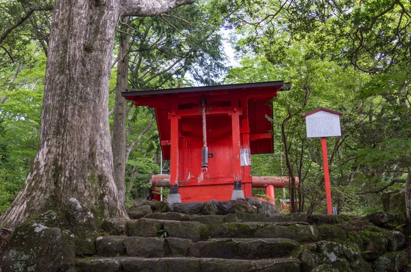
M 164 221 L 164 231 L 170 237 L 199 241 L 205 225 L 195 221 Z

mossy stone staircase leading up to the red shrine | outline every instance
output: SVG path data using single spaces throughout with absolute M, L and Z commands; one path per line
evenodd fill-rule
M 100 236 L 80 271 L 300 271 L 292 253 L 318 241 L 304 214 L 151 213 L 127 221 L 127 236 Z

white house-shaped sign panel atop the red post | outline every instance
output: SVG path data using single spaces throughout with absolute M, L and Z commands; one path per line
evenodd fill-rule
M 317 111 L 306 116 L 307 137 L 341 136 L 340 115 Z

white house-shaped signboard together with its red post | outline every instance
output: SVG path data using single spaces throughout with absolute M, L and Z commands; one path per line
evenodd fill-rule
M 303 115 L 303 118 L 306 118 L 307 137 L 321 137 L 327 215 L 332 215 L 332 199 L 326 137 L 341 136 L 340 115 L 343 115 L 343 113 L 324 108 L 316 109 Z

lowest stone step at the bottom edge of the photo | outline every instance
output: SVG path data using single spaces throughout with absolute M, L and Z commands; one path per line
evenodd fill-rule
M 77 260 L 76 268 L 82 272 L 299 272 L 297 258 L 277 258 L 262 260 L 234 260 L 216 258 L 84 258 Z

